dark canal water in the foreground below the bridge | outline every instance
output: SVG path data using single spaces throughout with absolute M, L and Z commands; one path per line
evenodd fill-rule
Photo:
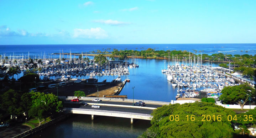
M 58 122 L 29 138 L 136 138 L 151 126 L 148 120 L 134 120 L 130 118 L 73 115 Z

